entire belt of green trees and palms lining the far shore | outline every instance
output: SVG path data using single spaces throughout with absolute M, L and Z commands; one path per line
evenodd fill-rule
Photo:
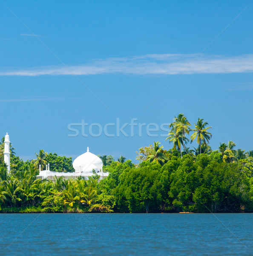
M 0 144 L 0 213 L 231 213 L 253 212 L 253 151 L 220 143 L 212 150 L 211 127 L 204 119 L 192 126 L 184 114 L 169 126 L 166 150 L 160 142 L 137 152 L 138 164 L 124 156 L 99 156 L 109 176 L 88 180 L 40 180 L 38 167 L 50 163 L 55 172 L 74 172 L 71 157 L 40 150 L 24 162 L 11 151 L 11 172 Z M 196 141 L 198 147 L 189 145 Z

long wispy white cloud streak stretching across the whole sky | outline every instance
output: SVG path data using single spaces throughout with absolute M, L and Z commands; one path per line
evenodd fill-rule
M 125 58 L 96 59 L 83 65 L 1 68 L 0 76 L 97 75 L 97 74 L 219 74 L 253 72 L 253 54 L 226 56 L 198 54 L 148 54 Z M 193 63 L 191 63 L 193 61 Z M 189 66 L 190 64 L 190 66 Z M 189 67 L 188 67 L 189 66 Z

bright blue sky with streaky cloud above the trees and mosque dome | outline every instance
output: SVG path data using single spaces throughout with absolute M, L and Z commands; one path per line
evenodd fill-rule
M 154 140 L 172 147 L 145 127 L 178 113 L 209 122 L 213 149 L 228 140 L 253 149 L 251 1 L 1 1 L 0 10 L 0 134 L 24 160 L 89 146 L 136 162 Z M 142 136 L 127 125 L 129 137 L 117 137 L 115 125 L 107 137 L 117 119 L 146 123 Z M 101 136 L 76 127 L 71 137 L 82 120 Z

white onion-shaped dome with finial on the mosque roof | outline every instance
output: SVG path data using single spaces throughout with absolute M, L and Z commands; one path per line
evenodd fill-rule
M 102 160 L 95 154 L 89 152 L 89 147 L 86 153 L 81 154 L 73 162 L 75 172 L 92 173 L 93 169 L 96 172 L 100 172 L 102 166 Z

